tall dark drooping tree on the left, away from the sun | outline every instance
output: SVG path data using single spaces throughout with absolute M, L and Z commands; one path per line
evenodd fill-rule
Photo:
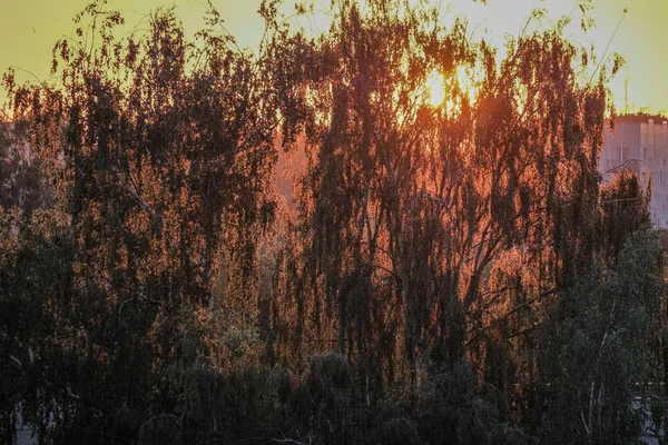
M 268 37 L 273 8 L 262 11 Z M 4 319 L 17 385 L 3 409 L 21 407 L 45 441 L 140 435 L 161 409 L 183 431 L 188 369 L 229 362 L 207 320 L 220 336 L 254 336 L 274 134 L 293 79 L 265 56 L 269 39 L 259 56 L 239 49 L 213 9 L 193 41 L 173 9 L 148 19 L 124 33 L 122 17 L 95 2 L 53 48 L 58 82 L 4 77 L 11 117 L 30 125 L 55 185 L 37 219 L 2 214 L 2 312 L 31 308 Z

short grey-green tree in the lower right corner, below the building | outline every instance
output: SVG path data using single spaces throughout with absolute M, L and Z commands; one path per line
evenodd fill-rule
M 636 231 L 615 267 L 595 269 L 560 297 L 543 326 L 547 443 L 622 444 L 639 436 L 648 413 L 633 396 L 658 382 L 651 343 L 666 297 L 661 256 L 655 235 Z

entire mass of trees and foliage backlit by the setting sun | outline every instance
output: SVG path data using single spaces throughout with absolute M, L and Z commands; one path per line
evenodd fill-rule
M 338 1 L 315 38 L 277 8 L 250 51 L 214 9 L 189 41 L 173 10 L 127 33 L 98 2 L 55 47 L 58 82 L 6 75 L 1 441 L 19 418 L 56 444 L 620 444 L 660 425 L 649 194 L 597 170 L 619 59 L 570 43 L 568 18 L 530 27 L 540 11 L 498 62 L 422 3 Z

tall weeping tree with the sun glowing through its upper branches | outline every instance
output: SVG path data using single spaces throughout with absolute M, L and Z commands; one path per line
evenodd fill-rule
M 308 162 L 275 279 L 276 359 L 336 349 L 367 402 L 464 359 L 501 390 L 536 378 L 543 309 L 600 249 L 620 63 L 592 65 L 568 19 L 531 31 L 540 16 L 498 62 L 429 7 L 344 1 L 298 52 Z

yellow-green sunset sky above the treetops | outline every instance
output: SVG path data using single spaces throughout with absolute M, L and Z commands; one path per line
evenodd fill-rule
M 502 42 L 505 33 L 517 33 L 522 21 L 536 7 L 547 8 L 549 17 L 568 14 L 578 0 L 488 0 L 487 6 L 473 0 L 435 0 L 444 17 L 465 14 L 471 29 L 479 37 Z M 609 51 L 621 53 L 628 67 L 611 83 L 615 101 L 623 109 L 623 83 L 628 80 L 629 111 L 649 107 L 649 111 L 668 110 L 668 0 L 592 0 L 591 16 L 597 29 L 583 37 L 573 26 L 573 38 L 582 43 L 592 42 L 602 52 L 615 28 L 623 19 Z M 0 0 L 0 71 L 10 66 L 30 71 L 40 79 L 48 79 L 53 42 L 62 34 L 71 34 L 71 18 L 88 0 Z M 286 8 L 294 4 L 286 1 Z M 254 46 L 262 36 L 263 22 L 256 11 L 259 0 L 213 0 L 226 26 L 243 46 Z M 176 4 L 187 31 L 196 30 L 205 10 L 203 0 L 109 0 L 110 9 L 124 12 L 127 21 L 138 22 L 153 8 Z M 327 9 L 330 0 L 315 0 L 316 11 Z M 581 12 L 574 8 L 574 22 Z M 301 24 L 317 28 L 325 20 L 321 17 Z M 18 71 L 19 79 L 30 76 Z M 0 93 L 0 98 L 4 95 Z M 668 111 L 666 111 L 668 112 Z

